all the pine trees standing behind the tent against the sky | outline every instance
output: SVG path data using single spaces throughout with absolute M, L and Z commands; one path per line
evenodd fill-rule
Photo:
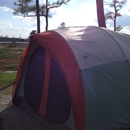
M 45 30 L 48 30 L 48 18 L 51 18 L 52 15 L 50 10 L 53 8 L 58 8 L 63 4 L 69 3 L 71 0 L 57 0 L 56 2 L 50 2 L 49 0 L 45 0 L 43 5 L 39 5 L 39 0 L 36 0 L 36 3 L 31 4 L 32 0 L 17 0 L 14 4 L 17 8 L 14 9 L 13 14 L 23 17 L 37 17 L 37 33 L 40 32 L 40 17 L 45 17 L 46 25 Z M 86 0 L 87 1 L 87 0 Z M 119 11 L 123 7 L 123 5 L 127 2 L 127 0 L 112 0 L 111 2 L 107 2 L 106 0 L 96 0 L 96 8 L 97 8 L 97 20 L 99 27 L 106 28 L 106 20 L 112 20 L 114 23 L 114 31 L 120 31 L 122 26 L 116 25 L 117 17 L 122 16 Z M 104 5 L 110 6 L 114 11 L 109 11 L 104 14 Z M 60 27 L 65 27 L 65 22 L 60 24 Z M 59 28 L 60 28 L 59 27 Z M 36 31 L 32 31 L 31 35 L 33 35 Z

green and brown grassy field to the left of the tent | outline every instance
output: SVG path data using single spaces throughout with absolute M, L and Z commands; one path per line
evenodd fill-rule
M 0 44 L 0 90 L 14 82 L 19 60 L 25 47 L 22 44 L 18 47 Z M 3 91 L 6 94 L 11 92 L 12 86 Z

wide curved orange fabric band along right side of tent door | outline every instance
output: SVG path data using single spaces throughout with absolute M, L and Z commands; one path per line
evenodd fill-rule
M 72 109 L 74 109 L 73 114 L 75 116 L 76 128 L 79 129 L 81 127 L 80 129 L 84 129 L 84 96 L 83 88 L 80 87 L 82 86 L 82 81 L 76 59 L 63 37 L 60 37 L 53 31 L 48 31 L 43 34 L 44 39 L 42 34 L 36 34 L 34 38 L 39 44 L 41 44 L 40 41 L 46 43 L 41 44 L 41 46 L 47 48 L 47 50 L 49 49 L 53 54 L 52 56 L 56 57 L 56 61 L 58 60 L 66 76 L 68 86 L 71 86 L 69 87 L 69 92 L 71 95 Z M 37 37 L 37 35 L 39 36 Z M 79 111 L 81 109 L 82 111 Z

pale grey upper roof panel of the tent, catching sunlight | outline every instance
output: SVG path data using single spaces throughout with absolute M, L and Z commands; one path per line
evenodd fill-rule
M 130 59 L 130 38 L 113 31 L 98 27 L 74 27 L 57 32 L 67 39 L 80 69 Z

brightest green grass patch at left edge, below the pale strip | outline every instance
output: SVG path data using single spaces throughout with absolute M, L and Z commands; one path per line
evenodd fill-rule
M 16 73 L 0 73 L 0 88 L 14 82 Z

